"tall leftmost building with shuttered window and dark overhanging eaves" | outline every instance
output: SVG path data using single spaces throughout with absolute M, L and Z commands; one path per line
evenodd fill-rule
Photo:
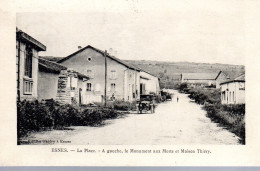
M 38 82 L 38 52 L 46 46 L 16 28 L 17 100 L 35 100 Z

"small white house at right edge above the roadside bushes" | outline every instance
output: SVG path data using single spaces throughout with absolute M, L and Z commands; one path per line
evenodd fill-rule
M 220 84 L 221 104 L 245 104 L 245 74 Z

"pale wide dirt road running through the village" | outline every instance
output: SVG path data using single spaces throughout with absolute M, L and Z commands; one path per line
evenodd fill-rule
M 173 100 L 160 104 L 154 114 L 129 114 L 108 120 L 102 127 L 45 131 L 26 139 L 78 145 L 239 144 L 237 136 L 212 123 L 186 94 L 174 94 Z

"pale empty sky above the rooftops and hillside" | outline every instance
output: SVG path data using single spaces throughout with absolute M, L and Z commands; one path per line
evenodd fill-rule
M 16 25 L 46 45 L 42 56 L 65 57 L 92 45 L 128 60 L 245 63 L 245 17 L 238 1 L 117 2 L 34 11 L 18 3 Z

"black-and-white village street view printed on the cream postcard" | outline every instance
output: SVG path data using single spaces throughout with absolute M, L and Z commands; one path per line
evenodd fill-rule
M 17 145 L 245 145 L 240 8 L 126 2 L 16 13 Z

